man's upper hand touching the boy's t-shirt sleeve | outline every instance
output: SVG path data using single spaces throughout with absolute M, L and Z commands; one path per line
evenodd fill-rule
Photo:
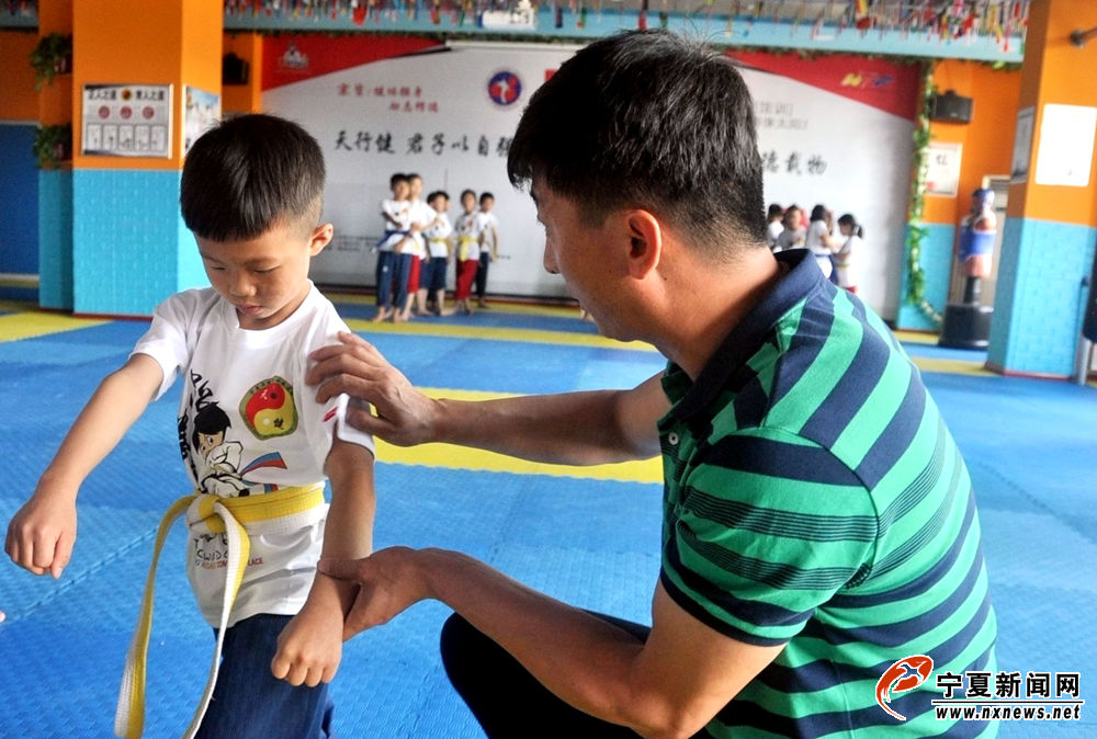
M 350 406 L 347 421 L 352 427 L 397 446 L 433 441 L 439 402 L 415 389 L 373 344 L 348 332 L 340 332 L 339 340 L 341 344 L 324 346 L 309 355 L 316 364 L 305 382 L 319 385 L 317 401 L 327 402 L 346 393 L 376 410 L 374 416 L 367 408 Z

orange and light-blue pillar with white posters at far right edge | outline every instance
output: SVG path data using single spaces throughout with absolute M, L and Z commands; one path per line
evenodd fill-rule
M 1018 113 L 1032 122 L 1031 147 L 1009 187 L 987 352 L 1006 374 L 1073 371 L 1097 243 L 1097 86 L 1087 81 L 1097 39 L 1079 46 L 1071 34 L 1094 27 L 1095 2 L 1031 4 Z

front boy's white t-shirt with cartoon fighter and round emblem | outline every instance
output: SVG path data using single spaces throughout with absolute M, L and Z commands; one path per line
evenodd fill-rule
M 347 330 L 335 306 L 312 285 L 293 315 L 260 331 L 241 329 L 236 309 L 212 287 L 178 293 L 157 306 L 133 354 L 147 354 L 163 370 L 158 398 L 177 376 L 183 379 L 179 448 L 195 490 L 258 496 L 323 481 L 336 433 L 373 452 L 373 437 L 344 423 L 346 395 L 321 405 L 315 388 L 305 385 L 308 354 L 336 343 L 338 332 Z M 269 533 L 252 533 L 229 625 L 260 613 L 301 610 L 320 556 L 326 514 L 325 504 L 294 531 L 272 526 Z M 192 527 L 186 575 L 213 626 L 220 618 L 226 553 L 224 534 Z

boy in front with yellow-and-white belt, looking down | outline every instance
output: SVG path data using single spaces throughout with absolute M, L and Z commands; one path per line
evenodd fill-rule
M 331 224 L 316 225 L 324 177 L 316 140 L 272 116 L 233 118 L 194 144 L 180 203 L 213 286 L 157 307 L 8 530 L 13 561 L 59 577 L 76 538 L 80 485 L 182 377 L 178 439 L 195 494 L 169 510 L 156 555 L 185 510 L 188 577 L 217 629 L 188 737 L 323 737 L 330 728 L 324 683 L 339 666 L 341 614 L 353 592 L 314 568 L 321 554 L 369 554 L 374 490 L 373 440 L 343 423 L 346 396 L 317 403 L 304 384 L 308 353 L 347 330 L 308 280 L 309 259 L 332 236 Z M 235 601 L 224 598 L 227 583 Z M 148 589 L 145 599 L 147 617 Z M 139 626 L 123 678 L 115 717 L 123 736 L 142 731 L 148 628 Z

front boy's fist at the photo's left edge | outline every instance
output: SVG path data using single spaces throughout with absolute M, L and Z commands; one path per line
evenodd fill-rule
M 4 552 L 34 575 L 57 579 L 76 543 L 76 493 L 38 482 L 38 489 L 8 524 Z

